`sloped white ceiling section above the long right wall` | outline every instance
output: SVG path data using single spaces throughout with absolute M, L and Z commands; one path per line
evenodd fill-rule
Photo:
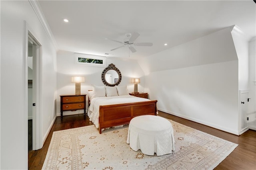
M 139 64 L 145 74 L 212 63 L 238 60 L 232 28 L 225 28 L 210 35 L 144 57 Z

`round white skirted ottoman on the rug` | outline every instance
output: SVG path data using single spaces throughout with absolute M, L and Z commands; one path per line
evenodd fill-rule
M 147 155 L 162 156 L 174 151 L 172 124 L 167 119 L 142 115 L 134 117 L 129 124 L 126 143 L 134 150 L 141 150 Z

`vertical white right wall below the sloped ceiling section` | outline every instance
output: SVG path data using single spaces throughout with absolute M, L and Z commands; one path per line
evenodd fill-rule
M 229 61 L 152 72 L 146 92 L 161 111 L 236 134 L 237 66 Z

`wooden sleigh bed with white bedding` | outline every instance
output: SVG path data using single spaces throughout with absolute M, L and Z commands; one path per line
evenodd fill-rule
M 113 88 L 113 87 L 107 87 Z M 125 125 L 130 123 L 133 117 L 140 115 L 156 115 L 157 100 L 149 100 L 145 98 L 138 98 L 130 96 L 127 93 L 123 95 L 108 95 L 106 88 L 106 97 L 93 97 L 90 100 L 89 91 L 89 102 L 88 117 L 90 121 L 94 123 L 98 128 L 99 133 L 102 133 L 102 129 L 108 127 L 115 127 L 119 125 Z M 114 89 L 114 88 L 113 88 Z M 95 90 L 94 90 L 95 91 Z M 94 92 L 95 94 L 95 92 Z

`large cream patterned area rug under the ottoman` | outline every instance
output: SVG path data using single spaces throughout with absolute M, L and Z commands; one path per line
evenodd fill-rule
M 44 170 L 172 170 L 215 168 L 238 145 L 170 120 L 175 151 L 163 156 L 135 152 L 126 143 L 128 125 L 98 133 L 94 125 L 55 131 Z

